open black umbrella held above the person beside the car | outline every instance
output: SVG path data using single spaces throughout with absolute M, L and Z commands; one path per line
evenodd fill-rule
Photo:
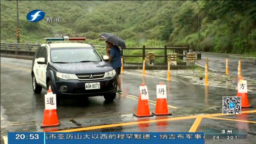
M 110 42 L 116 46 L 120 46 L 121 48 L 126 48 L 124 40 L 119 38 L 119 36 L 116 36 L 114 34 L 110 33 L 103 33 L 100 35 L 100 38 L 104 39 L 107 42 Z

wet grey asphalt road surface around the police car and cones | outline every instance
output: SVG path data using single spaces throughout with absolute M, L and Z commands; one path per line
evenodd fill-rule
M 210 60 L 210 59 L 209 59 Z M 210 66 L 212 65 L 209 61 Z M 238 63 L 238 62 L 237 62 Z M 18 60 L 1 57 L 1 137 L 12 131 L 42 131 L 40 123 L 44 114 L 44 94 L 34 94 L 32 90 L 30 60 Z M 225 66 L 224 66 L 225 67 Z M 243 68 L 243 60 L 242 60 Z M 245 70 L 244 70 L 245 71 Z M 250 71 L 250 70 L 248 70 Z M 243 72 L 243 69 L 242 69 Z M 245 73 L 245 72 L 244 72 Z M 253 73 L 253 72 L 252 72 Z M 104 116 L 118 116 L 121 114 L 134 114 L 137 110 L 139 86 L 146 84 L 149 90 L 150 110 L 154 112 L 156 101 L 156 84 L 163 82 L 167 86 L 167 102 L 173 116 L 187 116 L 192 114 L 222 113 L 222 96 L 236 96 L 236 90 L 214 86 L 191 84 L 186 79 L 172 75 L 172 81 L 160 79 L 158 76 L 142 77 L 136 71 L 122 74 L 122 96 L 117 95 L 112 103 L 106 103 L 101 96 L 90 97 L 88 102 L 78 100 L 62 100 L 57 107 L 58 118 L 71 120 L 74 118 L 94 119 Z M 154 75 L 154 74 L 152 74 Z M 242 75 L 244 75 L 242 73 Z M 256 92 L 248 94 L 251 105 L 256 105 Z M 255 108 L 250 109 L 255 110 Z M 255 121 L 255 113 L 249 114 L 248 120 Z M 188 132 L 194 119 L 171 121 L 165 124 L 141 124 L 104 128 L 92 131 L 116 132 Z M 227 124 L 223 125 L 224 122 Z M 98 122 L 98 125 L 104 121 Z M 234 125 L 233 125 L 234 124 Z M 256 124 L 246 123 L 250 134 L 250 141 L 256 136 Z M 230 126 L 232 125 L 232 126 Z M 236 122 L 205 119 L 198 128 L 203 132 L 205 128 L 237 128 Z

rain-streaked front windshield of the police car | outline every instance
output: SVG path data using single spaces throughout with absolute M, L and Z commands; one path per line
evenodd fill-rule
M 93 48 L 52 48 L 52 62 L 99 62 L 100 56 Z

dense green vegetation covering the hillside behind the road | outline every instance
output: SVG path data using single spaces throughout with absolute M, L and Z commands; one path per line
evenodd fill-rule
M 198 1 L 201 50 L 256 55 L 256 1 Z M 198 5 L 192 1 L 18 1 L 21 42 L 43 42 L 57 35 L 85 36 L 102 44 L 102 32 L 116 33 L 128 47 L 189 44 L 198 50 Z M 62 22 L 28 22 L 26 14 L 44 10 Z M 109 10 L 118 14 L 116 16 Z M 162 14 L 158 14 L 161 12 Z M 165 16 L 167 14 L 168 16 Z M 1 41 L 16 41 L 16 1 L 1 0 Z M 104 44 L 104 43 L 103 43 Z

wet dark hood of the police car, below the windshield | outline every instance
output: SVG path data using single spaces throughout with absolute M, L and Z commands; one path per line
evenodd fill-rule
M 107 62 L 75 62 L 75 63 L 52 63 L 59 72 L 67 74 L 86 74 L 108 72 L 113 70 L 112 66 Z

